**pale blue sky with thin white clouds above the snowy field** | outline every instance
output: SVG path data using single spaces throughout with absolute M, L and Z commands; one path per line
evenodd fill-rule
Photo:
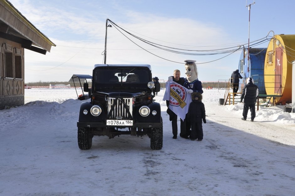
M 248 46 L 249 10 L 246 0 L 10 0 L 56 47 L 42 55 L 25 49 L 25 82 L 68 81 L 73 74 L 92 74 L 103 63 L 105 21 L 157 44 L 212 50 Z M 253 0 L 247 1 L 247 4 Z M 250 41 L 269 31 L 295 34 L 294 1 L 256 0 L 250 12 Z M 165 52 L 128 40 L 116 28 L 108 28 L 108 64 L 150 64 L 153 76 L 166 80 L 174 69 L 185 77 L 184 60 L 196 60 L 201 81 L 228 80 L 238 68 L 241 51 L 222 55 L 184 55 Z M 272 36 L 272 32 L 269 34 Z M 267 47 L 268 42 L 256 47 Z M 214 61 L 224 57 L 220 60 Z M 181 63 L 174 63 L 181 62 Z M 211 63 L 206 63 L 213 61 Z

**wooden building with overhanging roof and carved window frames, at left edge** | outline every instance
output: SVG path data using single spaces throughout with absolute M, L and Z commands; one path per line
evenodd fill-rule
M 0 0 L 0 109 L 24 105 L 24 48 L 45 55 L 51 46 L 9 1 Z

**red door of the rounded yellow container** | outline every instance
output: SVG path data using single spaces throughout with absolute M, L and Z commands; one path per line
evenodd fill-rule
M 283 68 L 283 48 L 276 48 L 276 68 L 275 68 L 275 93 L 281 94 L 282 91 L 282 68 Z

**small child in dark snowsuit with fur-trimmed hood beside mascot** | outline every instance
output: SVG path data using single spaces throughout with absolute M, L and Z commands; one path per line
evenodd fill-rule
M 202 101 L 202 94 L 199 92 L 193 92 L 191 94 L 192 102 L 190 103 L 189 111 L 187 116 L 191 123 L 191 133 L 190 139 L 193 141 L 198 139 L 198 141 L 202 141 L 203 139 L 203 127 L 202 127 L 202 120 L 206 123 L 206 113 L 205 113 L 205 106 L 201 102 Z

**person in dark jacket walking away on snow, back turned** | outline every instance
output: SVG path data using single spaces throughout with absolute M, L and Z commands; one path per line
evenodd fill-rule
M 243 92 L 241 95 L 241 103 L 244 99 L 244 109 L 243 109 L 243 118 L 242 120 L 247 119 L 248 110 L 250 108 L 251 112 L 251 122 L 254 121 L 256 116 L 255 113 L 255 103 L 258 96 L 258 87 L 253 84 L 254 80 L 252 78 L 247 78 L 246 85 L 243 88 Z

